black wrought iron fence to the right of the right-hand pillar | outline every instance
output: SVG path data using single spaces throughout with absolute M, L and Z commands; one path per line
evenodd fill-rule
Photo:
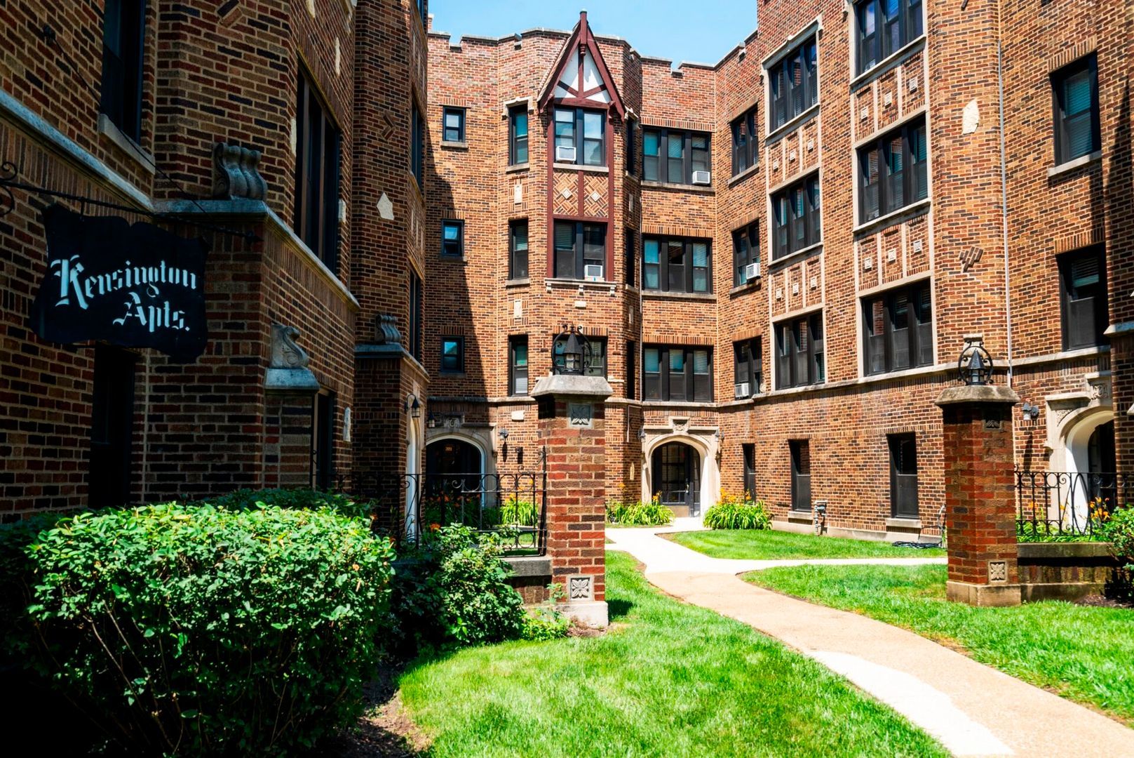
M 1016 470 L 1016 529 L 1022 537 L 1094 534 L 1115 508 L 1134 502 L 1120 473 Z

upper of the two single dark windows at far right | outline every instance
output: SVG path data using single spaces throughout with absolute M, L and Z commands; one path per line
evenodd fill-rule
M 1056 166 L 1100 150 L 1099 64 L 1092 53 L 1051 75 Z

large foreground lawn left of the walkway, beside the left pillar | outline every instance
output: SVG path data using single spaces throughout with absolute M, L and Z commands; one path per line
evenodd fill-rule
M 448 756 L 945 756 L 886 706 L 607 554 L 615 625 L 422 660 L 401 700 Z

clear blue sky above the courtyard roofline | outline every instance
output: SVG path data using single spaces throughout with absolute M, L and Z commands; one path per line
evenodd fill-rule
M 756 27 L 756 0 L 430 0 L 433 28 L 505 36 L 543 26 L 569 31 L 586 17 L 595 34 L 629 41 L 643 56 L 716 64 Z M 695 9 L 696 12 L 689 12 Z

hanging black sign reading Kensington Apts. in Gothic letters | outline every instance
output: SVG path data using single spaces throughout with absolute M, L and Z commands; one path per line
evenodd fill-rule
M 43 211 L 43 227 L 48 271 L 32 305 L 40 337 L 154 347 L 184 362 L 201 355 L 208 339 L 203 239 L 61 205 Z

